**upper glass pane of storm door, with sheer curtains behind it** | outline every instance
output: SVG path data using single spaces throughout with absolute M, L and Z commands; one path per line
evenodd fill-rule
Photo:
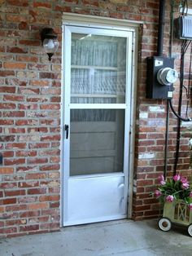
M 127 38 L 72 33 L 71 103 L 124 104 Z

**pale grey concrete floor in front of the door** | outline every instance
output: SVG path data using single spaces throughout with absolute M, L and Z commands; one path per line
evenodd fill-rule
M 185 228 L 162 232 L 157 220 L 65 227 L 61 232 L 0 240 L 0 256 L 191 256 Z

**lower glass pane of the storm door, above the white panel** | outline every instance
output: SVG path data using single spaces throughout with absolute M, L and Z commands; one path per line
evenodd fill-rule
M 72 109 L 70 175 L 123 172 L 124 109 Z

